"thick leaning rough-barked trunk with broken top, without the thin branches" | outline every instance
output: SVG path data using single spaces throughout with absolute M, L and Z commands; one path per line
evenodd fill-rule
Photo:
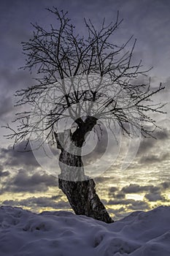
M 113 220 L 96 194 L 96 184 L 92 178 L 85 176 L 82 163 L 82 144 L 85 142 L 87 132 L 90 132 L 96 124 L 96 118 L 88 116 L 82 124 L 82 126 L 79 124 L 73 134 L 70 129 L 55 133 L 58 148 L 61 149 L 59 157 L 61 174 L 58 176 L 58 187 L 68 198 L 75 214 L 111 223 Z

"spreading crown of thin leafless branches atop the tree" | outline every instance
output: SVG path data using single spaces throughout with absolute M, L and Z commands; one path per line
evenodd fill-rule
M 17 129 L 7 125 L 12 131 L 7 137 L 19 143 L 39 132 L 45 142 L 51 135 L 54 138 L 58 121 L 68 116 L 78 126 L 83 124 L 82 116 L 95 116 L 108 126 L 111 120 L 117 122 L 126 135 L 135 129 L 145 137 L 152 135 L 156 124 L 150 113 L 163 112 L 163 105 L 154 104 L 152 96 L 163 86 L 153 90 L 149 79 L 148 83 L 137 83 L 149 70 L 142 69 L 141 60 L 138 64 L 132 61 L 136 39 L 132 42 L 130 37 L 122 45 L 114 43 L 114 33 L 123 22 L 119 13 L 115 22 L 106 24 L 104 19 L 98 30 L 85 19 L 86 33 L 81 36 L 67 12 L 55 7 L 47 10 L 58 23 L 48 30 L 32 24 L 32 38 L 22 42 L 27 58 L 23 69 L 36 69 L 36 85 L 16 91 L 16 106 L 24 111 L 14 120 Z M 29 122 L 33 116 L 36 118 Z M 129 131 L 126 124 L 134 128 Z

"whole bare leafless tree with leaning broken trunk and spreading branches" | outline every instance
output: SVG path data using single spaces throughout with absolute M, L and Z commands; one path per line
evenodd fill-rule
M 132 37 L 123 45 L 113 42 L 123 21 L 118 13 L 114 23 L 107 25 L 103 20 L 101 29 L 85 20 L 86 35 L 80 36 L 67 12 L 59 12 L 55 7 L 48 11 L 55 15 L 58 26 L 50 25 L 45 30 L 33 24 L 33 37 L 23 42 L 27 57 L 24 69 L 31 72 L 35 68 L 39 78 L 36 85 L 16 92 L 16 105 L 27 107 L 16 116 L 16 130 L 7 125 L 12 131 L 8 138 L 15 138 L 15 143 L 26 140 L 26 146 L 33 134 L 42 138 L 39 146 L 49 139 L 56 140 L 61 150 L 59 188 L 74 212 L 112 222 L 96 195 L 93 178 L 85 176 L 82 146 L 92 130 L 98 133 L 98 139 L 101 137 L 103 121 L 112 130 L 112 136 L 115 132 L 111 122 L 118 124 L 124 135 L 139 131 L 144 137 L 152 136 L 157 126 L 150 112 L 163 113 L 163 105 L 155 105 L 152 96 L 163 86 L 152 90 L 150 81 L 137 83 L 139 75 L 147 75 L 149 70 L 142 69 L 141 61 L 134 64 L 136 40 L 132 45 Z M 28 106 L 34 107 L 34 111 Z M 64 123 L 66 118 L 72 118 L 72 127 L 58 132 L 58 123 Z

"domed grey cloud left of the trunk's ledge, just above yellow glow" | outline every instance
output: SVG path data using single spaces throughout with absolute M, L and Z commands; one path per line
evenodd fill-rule
M 4 185 L 2 192 L 46 192 L 49 187 L 53 186 L 58 186 L 57 178 L 47 173 L 31 175 L 28 171 L 21 169 Z

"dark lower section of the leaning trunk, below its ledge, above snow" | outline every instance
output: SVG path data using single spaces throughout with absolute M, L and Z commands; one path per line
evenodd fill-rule
M 66 181 L 58 178 L 58 187 L 69 200 L 75 214 L 85 215 L 102 222 L 114 222 L 107 209 L 96 194 L 96 184 L 93 179 L 86 181 Z

